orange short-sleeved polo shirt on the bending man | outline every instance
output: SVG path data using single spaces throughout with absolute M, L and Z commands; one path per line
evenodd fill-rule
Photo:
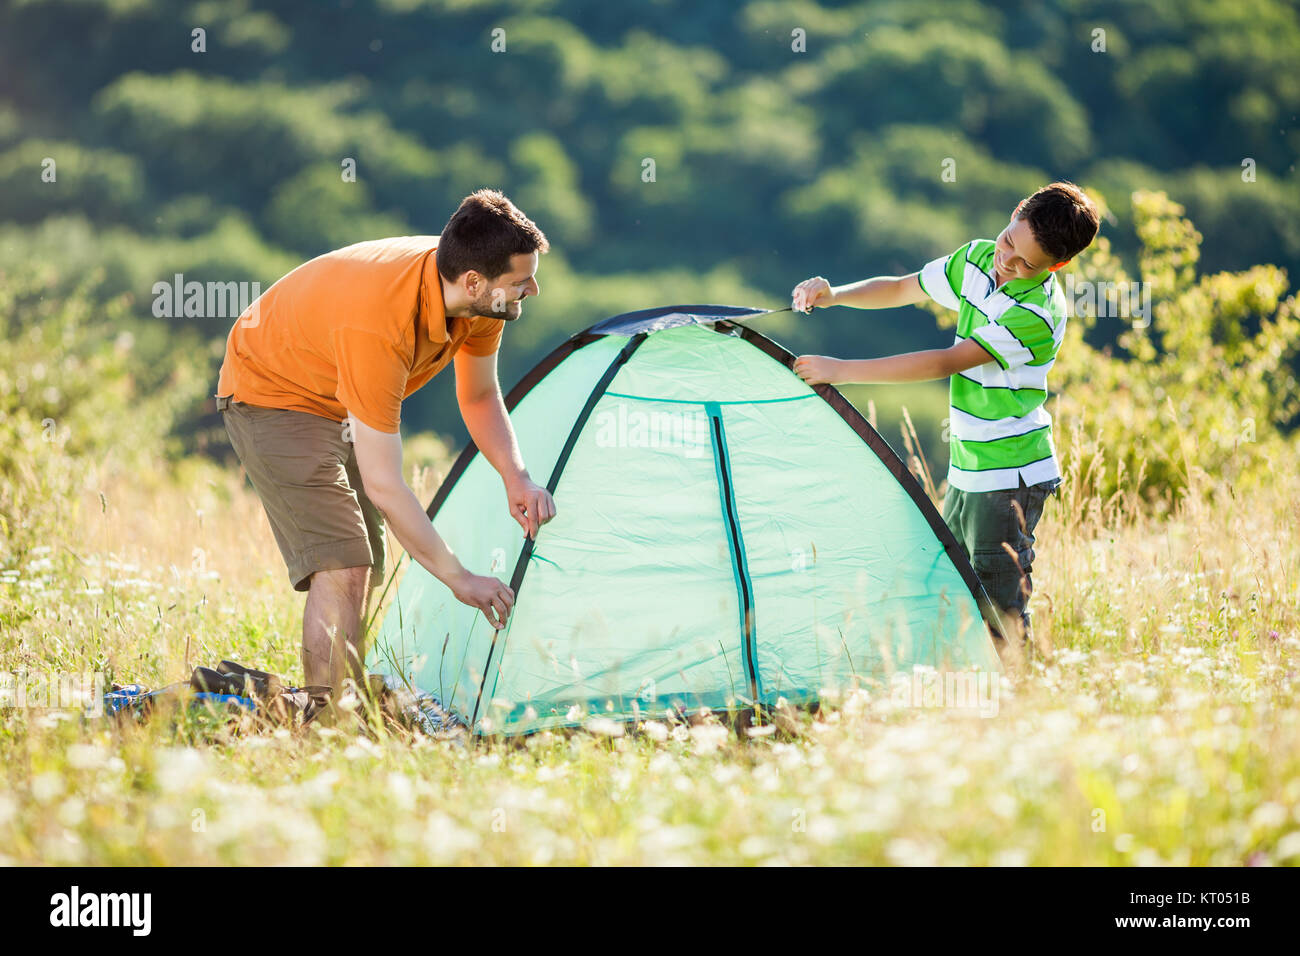
M 373 239 L 303 263 L 230 329 L 218 395 L 396 432 L 402 399 L 464 349 L 491 355 L 503 319 L 447 317 L 437 235 Z

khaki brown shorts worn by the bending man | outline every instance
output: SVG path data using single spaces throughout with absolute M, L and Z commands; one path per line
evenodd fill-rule
M 317 571 L 370 567 L 384 580 L 384 516 L 365 497 L 356 451 L 338 421 L 217 398 L 295 591 Z

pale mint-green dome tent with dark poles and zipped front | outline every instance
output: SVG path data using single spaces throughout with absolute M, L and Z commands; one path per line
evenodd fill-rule
M 429 506 L 465 567 L 508 579 L 507 627 L 412 566 L 369 669 L 480 734 L 997 670 L 935 507 L 838 392 L 736 321 L 755 313 L 630 312 L 529 372 L 506 405 L 555 519 L 523 538 L 473 444 Z

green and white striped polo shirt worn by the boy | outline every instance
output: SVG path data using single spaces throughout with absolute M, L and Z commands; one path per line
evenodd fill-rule
M 1048 372 L 1065 337 L 1065 295 L 1048 273 L 997 286 L 992 239 L 972 239 L 920 271 L 920 287 L 957 310 L 956 343 L 974 338 L 993 362 L 949 385 L 948 484 L 996 492 L 1061 477 Z

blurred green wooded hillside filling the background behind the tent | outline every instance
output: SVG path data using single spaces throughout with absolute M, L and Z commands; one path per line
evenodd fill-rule
M 1078 323 L 1054 381 L 1061 408 L 1100 427 L 1084 432 L 1093 440 L 1124 444 L 1134 472 L 1153 454 L 1167 462 L 1148 463 L 1144 481 L 1169 490 L 1182 467 L 1178 432 L 1160 425 L 1169 401 L 1178 420 L 1204 423 L 1191 406 L 1210 401 L 1200 389 L 1213 377 L 1234 427 L 1294 414 L 1294 310 L 1278 302 L 1300 265 L 1297 51 L 1300 16 L 1279 0 L 659 1 L 634 16 L 594 0 L 6 0 L 0 268 L 6 281 L 49 276 L 52 295 L 81 289 L 84 324 L 113 337 L 151 321 L 151 289 L 174 273 L 266 287 L 348 242 L 436 233 L 467 191 L 495 185 L 554 243 L 543 294 L 507 337 L 508 388 L 606 315 L 779 307 L 809 274 L 909 272 L 1071 178 L 1108 207 L 1106 242 L 1080 276 L 1150 269 L 1171 298 L 1157 297 L 1149 332 Z M 341 176 L 347 157 L 356 182 Z M 40 178 L 46 159 L 56 182 Z M 1171 221 L 1134 198 L 1152 191 L 1196 224 L 1183 267 L 1143 235 Z M 138 358 L 198 360 L 214 382 L 229 325 L 168 320 Z M 948 341 L 916 310 L 759 325 L 797 351 L 841 355 Z M 1206 376 L 1223 363 L 1251 384 Z M 406 423 L 459 442 L 445 378 L 407 402 Z M 940 388 L 909 403 L 939 473 Z M 881 407 L 897 444 L 887 392 L 850 394 Z M 1130 411 L 1110 415 L 1117 395 Z M 224 451 L 214 425 L 202 398 L 176 419 L 187 450 Z

